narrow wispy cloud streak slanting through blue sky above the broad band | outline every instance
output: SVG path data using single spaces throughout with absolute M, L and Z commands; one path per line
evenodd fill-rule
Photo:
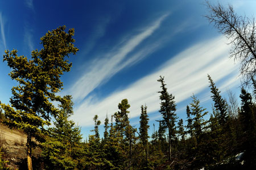
M 123 43 L 117 51 L 110 51 L 109 53 L 106 53 L 106 55 L 98 57 L 96 60 L 92 61 L 89 64 L 90 67 L 84 72 L 84 76 L 72 86 L 69 94 L 72 94 L 73 99 L 75 101 L 84 99 L 90 92 L 92 92 L 92 90 L 108 81 L 115 73 L 127 67 L 127 65 L 130 66 L 131 64 L 136 63 L 135 61 L 142 56 L 140 53 L 152 52 L 154 49 L 153 47 L 147 51 L 140 51 L 130 59 L 124 61 L 130 52 L 134 51 L 143 40 L 147 39 L 160 27 L 160 24 L 167 16 L 168 15 L 166 14 L 158 18 L 154 23 L 146 27 L 144 31 Z

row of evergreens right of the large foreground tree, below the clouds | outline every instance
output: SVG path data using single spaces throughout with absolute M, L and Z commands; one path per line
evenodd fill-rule
M 148 136 L 147 106 L 141 106 L 139 128 L 130 125 L 129 103 L 123 99 L 116 113 L 106 117 L 104 136 L 100 138 L 98 116 L 94 135 L 81 142 L 79 127 L 67 118 L 69 103 L 60 105 L 63 115 L 49 128 L 47 142 L 42 144 L 46 169 L 253 169 L 256 163 L 256 106 L 250 93 L 241 89 L 241 106 L 226 102 L 208 75 L 212 93 L 211 113 L 192 96 L 187 119 L 177 118 L 174 96 L 167 92 L 160 77 L 159 128 Z M 233 98 L 234 99 L 234 98 Z M 185 113 L 184 113 L 185 114 Z M 204 119 L 206 114 L 209 119 Z M 187 123 L 184 123 L 187 122 Z M 185 124 L 185 125 L 184 125 Z

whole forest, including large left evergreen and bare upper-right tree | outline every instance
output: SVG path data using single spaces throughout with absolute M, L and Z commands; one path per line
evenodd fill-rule
M 3 61 L 17 82 L 11 89 L 10 104 L 1 103 L 1 121 L 27 136 L 27 168 L 31 169 L 254 169 L 256 167 L 256 24 L 238 16 L 232 6 L 206 3 L 209 22 L 232 44 L 230 56 L 240 62 L 240 101 L 229 92 L 229 100 L 208 74 L 212 111 L 192 96 L 187 119 L 177 117 L 175 96 L 159 75 L 159 128 L 149 136 L 147 105 L 141 106 L 139 128 L 129 121 L 129 100 L 117 103 L 118 110 L 94 121 L 93 135 L 82 140 L 81 127 L 72 119 L 72 96 L 58 96 L 63 89 L 61 75 L 69 72 L 75 55 L 74 29 L 61 26 L 48 31 L 40 40 L 43 48 L 32 51 L 32 59 L 5 51 Z M 56 107 L 53 102 L 58 102 Z M 205 119 L 209 115 L 209 119 Z M 51 125 L 53 121 L 53 125 Z M 99 126 L 104 123 L 104 136 Z M 35 148 L 42 151 L 34 161 Z M 0 153 L 0 158 L 4 153 Z M 10 169 L 5 159 L 0 169 Z

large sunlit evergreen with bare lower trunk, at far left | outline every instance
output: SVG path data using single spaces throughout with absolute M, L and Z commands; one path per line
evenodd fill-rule
M 74 30 L 65 32 L 65 26 L 52 30 L 41 38 L 43 49 L 32 51 L 32 59 L 18 56 L 17 50 L 5 51 L 3 61 L 11 68 L 11 79 L 18 82 L 12 88 L 10 105 L 1 104 L 5 111 L 6 125 L 22 129 L 27 135 L 27 164 L 32 169 L 31 150 L 36 145 L 32 138 L 39 141 L 44 126 L 50 125 L 51 115 L 57 117 L 58 109 L 52 101 L 58 101 L 63 82 L 60 76 L 71 69 L 65 56 L 78 49 L 72 38 Z

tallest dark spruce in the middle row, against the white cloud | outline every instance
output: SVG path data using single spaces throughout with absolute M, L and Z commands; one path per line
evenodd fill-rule
M 162 91 L 160 93 L 160 110 L 159 112 L 163 115 L 163 125 L 168 128 L 168 160 L 171 160 L 171 141 L 175 138 L 176 128 L 176 104 L 174 101 L 174 96 L 167 92 L 166 84 L 164 84 L 164 77 L 160 76 L 159 80 L 161 83 Z

